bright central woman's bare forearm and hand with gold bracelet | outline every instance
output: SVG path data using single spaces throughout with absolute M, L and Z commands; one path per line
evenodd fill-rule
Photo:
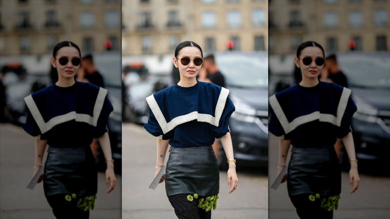
M 226 158 L 234 158 L 233 154 L 233 144 L 231 142 L 230 132 L 227 132 L 225 135 L 219 138 L 222 143 L 223 150 L 225 151 Z M 227 185 L 230 187 L 229 193 L 233 192 L 237 188 L 238 177 L 235 172 L 235 162 L 228 162 L 229 169 L 227 170 Z M 233 186 L 231 186 L 233 184 Z

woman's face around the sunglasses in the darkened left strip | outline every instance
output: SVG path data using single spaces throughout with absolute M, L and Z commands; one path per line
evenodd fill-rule
M 61 65 L 58 61 L 59 58 L 65 57 L 68 59 L 65 65 Z M 58 49 L 55 58 L 51 57 L 51 64 L 57 68 L 58 80 L 71 79 L 77 74 L 80 64 L 73 65 L 72 58 L 80 58 L 78 50 L 73 46 L 64 46 Z

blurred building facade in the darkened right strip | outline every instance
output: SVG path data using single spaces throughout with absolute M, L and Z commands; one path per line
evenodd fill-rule
M 390 49 L 390 0 L 268 0 L 269 54 L 306 40 L 325 51 Z

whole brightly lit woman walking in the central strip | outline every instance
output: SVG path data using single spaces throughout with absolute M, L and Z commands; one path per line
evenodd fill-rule
M 219 192 L 219 170 L 212 143 L 219 138 L 228 158 L 229 193 L 237 187 L 235 159 L 228 129 L 234 111 L 228 90 L 196 80 L 202 50 L 192 41 L 177 45 L 173 64 L 180 80 L 146 98 L 150 110 L 145 129 L 157 138 L 157 175 L 168 144 L 165 190 L 178 218 L 210 218 Z

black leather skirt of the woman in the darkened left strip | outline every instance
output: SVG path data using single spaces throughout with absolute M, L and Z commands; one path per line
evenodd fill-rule
M 44 194 L 88 196 L 97 192 L 97 169 L 90 146 L 49 147 L 43 172 Z

